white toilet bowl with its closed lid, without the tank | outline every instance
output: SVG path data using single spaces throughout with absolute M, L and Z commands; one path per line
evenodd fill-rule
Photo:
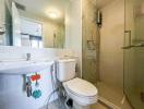
M 97 101 L 97 88 L 87 81 L 76 77 L 64 82 L 63 86 L 68 95 L 83 106 Z

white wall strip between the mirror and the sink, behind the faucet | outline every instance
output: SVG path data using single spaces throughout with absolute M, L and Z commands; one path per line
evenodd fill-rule
M 26 59 L 26 53 L 32 55 L 32 59 L 73 56 L 74 52 L 70 49 L 53 49 L 53 48 L 28 48 L 28 47 L 9 47 L 0 46 L 0 60 L 8 59 Z

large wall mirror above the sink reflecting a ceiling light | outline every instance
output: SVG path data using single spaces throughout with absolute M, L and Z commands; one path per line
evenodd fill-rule
M 0 0 L 0 45 L 63 48 L 69 0 Z

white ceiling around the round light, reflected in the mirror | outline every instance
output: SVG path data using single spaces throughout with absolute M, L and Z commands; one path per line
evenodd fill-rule
M 57 11 L 59 20 L 64 19 L 64 9 L 69 0 L 14 0 L 20 4 L 26 7 L 26 11 L 48 17 L 47 13 L 50 11 Z

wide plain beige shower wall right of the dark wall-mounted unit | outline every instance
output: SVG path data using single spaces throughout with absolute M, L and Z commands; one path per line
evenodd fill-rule
M 100 29 L 100 80 L 109 85 L 123 86 L 124 0 L 105 5 Z

